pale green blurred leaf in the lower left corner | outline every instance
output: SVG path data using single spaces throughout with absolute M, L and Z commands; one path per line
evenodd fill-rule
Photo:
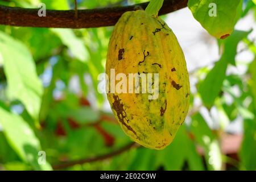
M 38 152 L 41 150 L 40 142 L 22 117 L 0 107 L 0 123 L 10 146 L 24 162 L 31 164 L 36 170 L 52 169 L 47 162 L 45 164 L 38 163 Z

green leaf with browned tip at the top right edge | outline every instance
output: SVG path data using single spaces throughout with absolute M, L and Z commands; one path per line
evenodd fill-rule
M 242 10 L 241 0 L 189 0 L 194 18 L 218 39 L 232 34 Z

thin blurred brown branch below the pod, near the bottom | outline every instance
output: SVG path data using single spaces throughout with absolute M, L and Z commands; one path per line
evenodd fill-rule
M 127 146 L 124 146 L 124 147 L 118 149 L 117 151 L 110 152 L 109 154 L 96 156 L 94 158 L 75 160 L 75 161 L 67 162 L 67 163 L 63 163 L 63 164 L 57 164 L 57 165 L 53 165 L 52 168 L 55 170 L 63 169 L 63 168 L 74 166 L 76 164 L 84 164 L 84 163 L 90 163 L 90 162 L 96 162 L 96 161 L 100 161 L 100 160 L 109 159 L 115 155 L 122 154 L 123 152 L 130 150 L 133 147 L 139 147 L 139 145 L 137 143 L 133 142 L 133 143 L 127 144 Z

